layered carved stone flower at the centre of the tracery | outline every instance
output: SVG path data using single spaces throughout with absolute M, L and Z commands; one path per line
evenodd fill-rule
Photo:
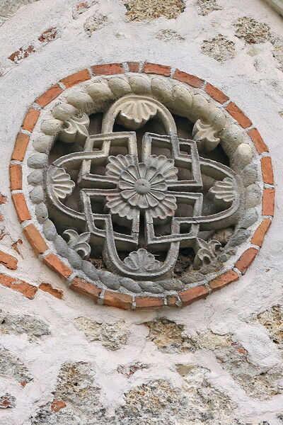
M 168 181 L 177 180 L 173 159 L 151 155 L 137 162 L 131 155 L 109 157 L 106 175 L 117 179 L 118 193 L 107 196 L 112 214 L 131 220 L 140 210 L 151 210 L 152 217 L 164 219 L 177 209 L 175 196 L 168 193 Z

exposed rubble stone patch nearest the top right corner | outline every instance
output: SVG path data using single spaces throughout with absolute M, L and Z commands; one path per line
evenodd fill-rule
M 267 23 L 258 22 L 253 18 L 244 16 L 233 25 L 236 27 L 236 37 L 243 38 L 248 44 L 270 40 L 270 26 Z

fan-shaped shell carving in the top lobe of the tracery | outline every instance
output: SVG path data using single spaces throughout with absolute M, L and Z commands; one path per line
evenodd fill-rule
M 143 127 L 157 113 L 157 108 L 151 101 L 130 99 L 122 103 L 119 122 L 131 130 Z

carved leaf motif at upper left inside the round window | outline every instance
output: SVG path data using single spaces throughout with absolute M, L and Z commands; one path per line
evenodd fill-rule
M 86 113 L 81 116 L 72 115 L 71 118 L 64 121 L 64 128 L 59 132 L 59 138 L 62 142 L 82 143 L 88 137 L 89 118 Z

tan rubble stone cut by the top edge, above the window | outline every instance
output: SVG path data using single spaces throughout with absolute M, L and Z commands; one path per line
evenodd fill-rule
M 126 0 L 124 4 L 129 21 L 152 21 L 161 16 L 174 19 L 185 9 L 183 0 Z

